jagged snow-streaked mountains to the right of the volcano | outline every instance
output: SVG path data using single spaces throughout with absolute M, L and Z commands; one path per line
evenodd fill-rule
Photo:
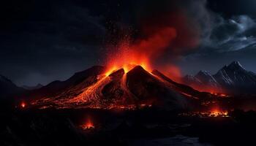
M 186 75 L 182 82 L 199 91 L 231 94 L 256 93 L 256 74 L 247 71 L 238 61 L 225 65 L 216 74 L 200 71 Z

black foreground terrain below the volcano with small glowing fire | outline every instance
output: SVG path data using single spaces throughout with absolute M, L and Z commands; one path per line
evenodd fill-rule
M 256 112 L 228 116 L 144 110 L 26 110 L 1 112 L 1 145 L 249 145 Z M 90 121 L 91 125 L 87 127 Z

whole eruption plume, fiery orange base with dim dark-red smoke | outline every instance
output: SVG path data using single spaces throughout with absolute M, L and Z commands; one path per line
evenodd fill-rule
M 148 72 L 159 69 L 167 77 L 180 81 L 180 69 L 170 62 L 200 44 L 200 29 L 188 25 L 189 21 L 183 10 L 178 9 L 175 13 L 165 12 L 158 17 L 140 18 L 136 30 L 140 35 L 129 34 L 130 30 L 126 34 L 127 31 L 123 30 L 124 34 L 121 31 L 120 36 L 114 37 L 114 43 L 108 44 L 105 75 L 116 69 L 124 69 L 127 73 L 134 66 L 142 66 Z

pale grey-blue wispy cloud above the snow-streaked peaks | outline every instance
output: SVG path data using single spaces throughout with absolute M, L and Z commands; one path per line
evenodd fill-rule
M 255 34 L 249 32 L 256 30 L 255 20 L 247 15 L 233 16 L 221 20 L 214 25 L 210 37 L 203 45 L 216 48 L 220 52 L 241 50 L 256 42 Z

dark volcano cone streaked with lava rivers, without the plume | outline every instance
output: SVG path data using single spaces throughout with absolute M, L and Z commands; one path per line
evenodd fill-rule
M 37 95 L 37 98 L 30 98 L 31 106 L 57 109 L 155 106 L 185 110 L 189 101 L 209 96 L 174 82 L 157 70 L 147 72 L 141 66 L 135 66 L 127 73 L 118 69 L 109 75 L 105 75 L 103 67 L 94 66 L 74 76 L 58 85 L 53 82 L 45 86 L 44 91 L 49 93 L 42 94 L 42 89 L 33 91 L 31 96 Z

